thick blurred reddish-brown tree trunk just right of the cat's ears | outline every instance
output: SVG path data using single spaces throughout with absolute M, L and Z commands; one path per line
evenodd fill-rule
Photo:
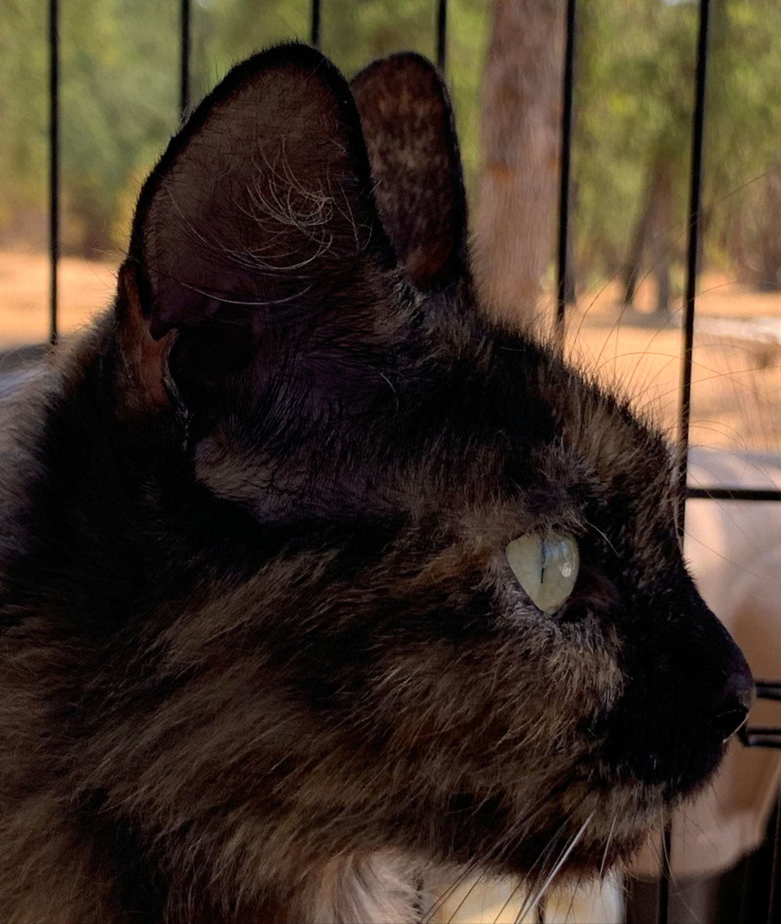
M 476 276 L 497 314 L 531 320 L 554 254 L 566 0 L 494 0 L 482 90 Z

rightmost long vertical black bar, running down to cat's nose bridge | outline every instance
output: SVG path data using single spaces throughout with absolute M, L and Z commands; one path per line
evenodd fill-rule
M 691 180 L 689 188 L 689 239 L 686 250 L 686 302 L 683 329 L 683 370 L 678 426 L 678 534 L 683 541 L 686 519 L 686 467 L 689 454 L 691 416 L 691 359 L 694 346 L 694 302 L 697 297 L 697 262 L 702 225 L 702 138 L 705 124 L 705 79 L 708 64 L 708 20 L 710 0 L 700 0 L 700 29 L 697 37 L 697 72 L 694 120 L 691 139 Z

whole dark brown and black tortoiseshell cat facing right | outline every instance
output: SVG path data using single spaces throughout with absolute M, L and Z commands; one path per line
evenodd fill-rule
M 752 684 L 667 447 L 481 315 L 465 240 L 416 55 L 277 47 L 171 142 L 4 409 L 4 922 L 409 921 L 714 772 Z

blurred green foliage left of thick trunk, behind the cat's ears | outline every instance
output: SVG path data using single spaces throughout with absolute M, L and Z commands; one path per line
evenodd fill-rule
M 448 44 L 470 182 L 489 0 L 454 0 Z M 143 176 L 178 122 L 178 4 L 61 0 L 62 238 L 66 251 L 122 248 Z M 309 39 L 310 0 L 193 0 L 197 102 L 253 51 Z M 435 51 L 429 0 L 324 0 L 323 49 L 346 73 L 402 48 Z M 46 9 L 0 0 L 0 242 L 43 246 L 48 170 Z

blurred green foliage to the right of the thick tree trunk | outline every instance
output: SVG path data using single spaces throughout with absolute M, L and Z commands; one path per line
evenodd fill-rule
M 703 202 L 708 261 L 725 264 L 747 185 L 779 162 L 781 6 L 712 4 Z M 654 164 L 672 178 L 666 246 L 679 252 L 688 210 L 698 5 L 591 0 L 580 6 L 576 85 L 577 251 L 581 272 L 613 274 L 644 207 Z M 752 210 L 763 201 L 753 194 Z

